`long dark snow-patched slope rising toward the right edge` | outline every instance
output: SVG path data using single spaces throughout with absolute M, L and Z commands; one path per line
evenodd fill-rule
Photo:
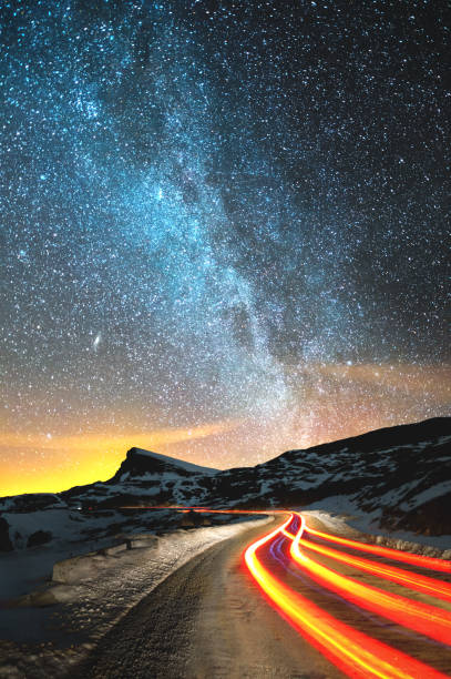
M 383 528 L 451 534 L 451 418 L 289 450 L 215 480 L 218 501 L 227 485 L 240 506 L 305 506 L 341 496 Z

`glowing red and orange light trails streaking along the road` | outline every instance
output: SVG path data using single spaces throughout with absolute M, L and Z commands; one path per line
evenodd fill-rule
M 156 508 L 156 507 L 154 507 Z M 160 507 L 168 509 L 170 507 Z M 284 510 L 239 510 L 239 509 L 208 509 L 206 507 L 171 507 L 178 511 L 195 510 L 212 514 L 285 514 Z M 308 539 L 310 536 L 316 540 Z M 451 584 L 440 580 L 432 575 L 424 575 L 424 569 L 441 574 L 451 572 L 451 563 L 442 559 L 423 557 L 410 553 L 389 549 L 378 545 L 358 543 L 348 538 L 338 537 L 306 525 L 305 518 L 298 513 L 290 513 L 278 528 L 258 538 L 247 547 L 244 560 L 254 580 L 265 592 L 273 607 L 290 622 L 290 625 L 312 643 L 330 662 L 342 672 L 352 678 L 377 677 L 379 679 L 438 679 L 445 677 L 439 669 L 427 665 L 371 637 L 348 622 L 330 615 L 327 610 L 315 604 L 304 594 L 286 584 L 277 576 L 277 567 L 271 567 L 274 559 L 271 546 L 280 543 L 280 538 L 288 540 L 287 571 L 293 575 L 293 567 L 306 574 L 312 582 L 319 584 L 322 591 L 332 591 L 339 595 L 340 600 L 349 602 L 358 609 L 376 614 L 378 618 L 394 622 L 401 630 L 410 629 L 427 638 L 439 642 L 438 648 L 447 652 L 451 647 Z M 317 541 L 317 539 L 321 541 Z M 383 557 L 408 564 L 410 567 L 421 568 L 422 572 L 404 570 L 386 563 L 373 561 L 345 550 L 332 548 L 324 543 L 331 543 L 339 548 L 360 550 L 377 557 Z M 307 554 L 306 554 L 307 553 Z M 271 556 L 273 555 L 273 556 Z M 310 556 L 308 556 L 310 555 Z M 357 581 L 348 575 L 337 572 L 315 559 L 319 555 L 337 565 L 369 574 L 377 581 L 394 582 L 402 586 L 406 596 L 381 589 L 373 585 Z M 356 574 L 358 575 L 358 572 Z M 445 577 L 445 576 L 442 576 Z M 293 578 L 291 578 L 293 579 Z M 290 580 L 289 580 L 290 581 Z M 429 601 L 408 598 L 409 592 L 427 595 L 428 599 L 435 600 L 439 606 Z M 440 604 L 444 604 L 440 607 Z M 448 608 L 447 608 L 448 607 Z M 421 638 L 416 637 L 413 647 L 417 649 Z M 428 653 L 431 658 L 431 653 Z

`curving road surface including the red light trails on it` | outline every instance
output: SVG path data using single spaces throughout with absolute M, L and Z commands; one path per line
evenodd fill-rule
M 268 537 L 253 528 L 194 558 L 71 677 L 451 676 L 449 563 L 357 549 L 308 520 L 278 516 Z

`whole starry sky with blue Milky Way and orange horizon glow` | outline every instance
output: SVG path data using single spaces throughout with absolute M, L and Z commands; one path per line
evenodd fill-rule
M 6 0 L 0 27 L 0 494 L 451 413 L 447 2 Z

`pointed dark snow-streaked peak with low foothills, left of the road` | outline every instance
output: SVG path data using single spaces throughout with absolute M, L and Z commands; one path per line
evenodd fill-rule
M 174 528 L 181 523 L 174 513 L 143 514 L 123 507 L 167 504 L 173 497 L 188 504 L 197 497 L 198 479 L 215 474 L 217 469 L 132 448 L 105 483 L 75 486 L 60 494 L 0 498 L 0 553 L 49 543 L 85 543 L 93 548 L 111 544 L 122 533 Z

